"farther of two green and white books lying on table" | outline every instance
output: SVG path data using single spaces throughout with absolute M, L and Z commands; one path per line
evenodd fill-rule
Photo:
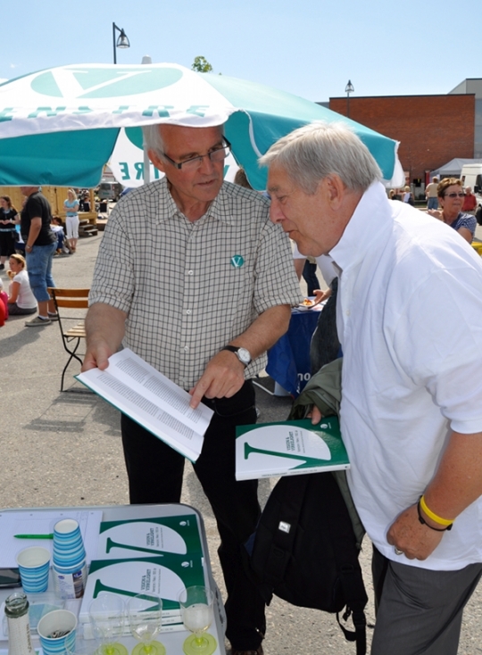
M 195 514 L 103 521 L 98 560 L 138 559 L 164 552 L 200 554 L 203 548 Z

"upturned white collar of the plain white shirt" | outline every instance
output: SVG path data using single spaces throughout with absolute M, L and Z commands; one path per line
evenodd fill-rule
M 329 252 L 339 269 L 360 265 L 374 242 L 393 225 L 394 209 L 395 202 L 388 200 L 385 187 L 374 182 L 362 195 L 341 239 Z

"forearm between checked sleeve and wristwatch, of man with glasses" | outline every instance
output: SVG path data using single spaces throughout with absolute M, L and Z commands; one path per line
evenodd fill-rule
M 230 344 L 246 348 L 253 359 L 262 355 L 280 336 L 287 332 L 291 308 L 289 305 L 277 305 L 263 311 L 242 335 L 233 339 Z

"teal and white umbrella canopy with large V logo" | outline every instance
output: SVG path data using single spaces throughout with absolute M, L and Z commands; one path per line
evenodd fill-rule
M 351 125 L 390 180 L 396 142 L 319 104 L 244 79 L 196 73 L 174 63 L 72 64 L 0 85 L 0 184 L 95 187 L 121 128 L 226 123 L 234 156 L 254 188 L 266 184 L 258 157 L 312 122 Z

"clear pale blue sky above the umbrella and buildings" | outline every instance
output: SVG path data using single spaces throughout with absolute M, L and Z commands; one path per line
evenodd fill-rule
M 482 77 L 480 0 L 16 0 L 4 2 L 0 78 L 67 63 L 197 55 L 214 72 L 313 101 L 345 95 L 446 94 Z

